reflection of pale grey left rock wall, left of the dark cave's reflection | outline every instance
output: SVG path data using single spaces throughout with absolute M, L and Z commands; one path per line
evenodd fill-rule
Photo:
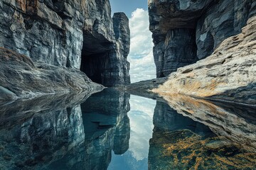
M 44 96 L 2 105 L 0 169 L 46 169 L 80 145 L 85 135 L 78 103 L 88 96 Z

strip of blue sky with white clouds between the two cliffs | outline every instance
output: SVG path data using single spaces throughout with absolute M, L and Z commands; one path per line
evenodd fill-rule
M 131 82 L 156 78 L 147 0 L 110 0 L 110 4 L 112 13 L 124 12 L 129 18 Z

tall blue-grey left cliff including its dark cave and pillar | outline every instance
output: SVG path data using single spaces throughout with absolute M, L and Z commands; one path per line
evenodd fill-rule
M 128 20 L 119 13 L 113 23 L 108 0 L 1 0 L 0 10 L 0 47 L 34 62 L 82 66 L 92 81 L 105 86 L 129 83 Z

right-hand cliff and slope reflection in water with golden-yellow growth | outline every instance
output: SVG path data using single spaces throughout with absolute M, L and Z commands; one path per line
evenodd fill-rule
M 149 169 L 255 169 L 255 108 L 163 97 L 154 111 Z

